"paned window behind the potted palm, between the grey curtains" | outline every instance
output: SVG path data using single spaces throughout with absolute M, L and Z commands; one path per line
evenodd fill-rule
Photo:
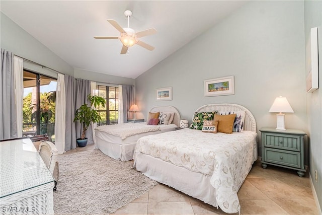
M 108 101 L 103 108 L 100 106 L 98 112 L 102 117 L 97 125 L 117 124 L 119 110 L 119 88 L 104 85 L 96 85 L 96 91 L 100 97 Z

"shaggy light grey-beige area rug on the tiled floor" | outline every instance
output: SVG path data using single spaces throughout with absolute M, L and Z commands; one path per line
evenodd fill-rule
M 140 197 L 157 182 L 100 150 L 58 155 L 55 214 L 109 214 Z

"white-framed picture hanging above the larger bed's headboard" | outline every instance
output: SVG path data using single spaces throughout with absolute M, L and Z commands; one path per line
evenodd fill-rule
M 234 95 L 233 76 L 204 81 L 205 96 Z

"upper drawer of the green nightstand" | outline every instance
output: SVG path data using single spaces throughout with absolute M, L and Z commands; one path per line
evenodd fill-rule
M 264 146 L 300 152 L 300 136 L 280 133 L 265 133 Z

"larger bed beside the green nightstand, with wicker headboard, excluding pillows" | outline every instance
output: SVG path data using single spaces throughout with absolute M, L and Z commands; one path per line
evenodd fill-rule
M 137 141 L 134 167 L 153 180 L 235 213 L 240 211 L 237 192 L 258 156 L 256 121 L 247 108 L 236 104 L 196 110 L 212 111 L 245 111 L 244 130 L 227 134 L 185 128 L 144 136 Z

